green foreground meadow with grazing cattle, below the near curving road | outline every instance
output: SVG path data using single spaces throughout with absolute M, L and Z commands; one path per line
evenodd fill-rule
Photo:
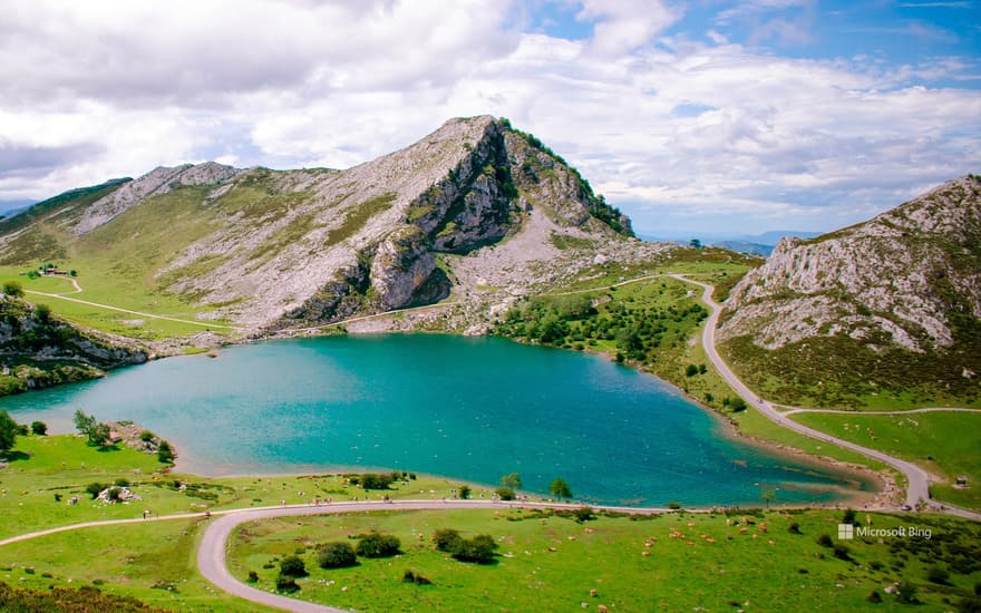
M 865 515 L 859 517 L 864 523 Z M 913 582 L 925 609 L 934 610 L 942 606 L 944 597 L 956 602 L 970 595 L 974 581 L 981 577 L 975 570 L 952 574 L 950 586 L 931 585 L 925 580 L 931 564 L 954 563 L 974 554 L 958 556 L 939 548 L 911 556 L 906 548 L 893 551 L 893 543 L 880 544 L 874 538 L 849 542 L 853 561 L 837 560 L 816 538 L 820 534 L 836 535 L 838 512 L 768 513 L 748 519 L 755 524 L 740 534 L 738 527 L 726 525 L 722 515 L 667 515 L 639 520 L 601 517 L 584 524 L 506 508 L 497 513 L 291 517 L 240 527 L 233 536 L 230 568 L 243 581 L 249 571 L 254 571 L 259 575 L 256 586 L 272 590 L 278 561 L 299 553 L 310 576 L 298 581 L 301 590 L 297 597 L 359 611 L 577 611 L 583 602 L 592 611 L 599 604 L 618 611 L 727 611 L 737 606 L 761 611 L 893 611 L 900 607 L 883 587 L 900 580 Z M 878 514 L 872 520 L 880 528 L 911 524 L 929 528 L 931 545 L 949 538 L 981 548 L 981 528 L 969 522 Z M 760 529 L 764 523 L 766 533 Z M 797 523 L 803 534 L 789 534 L 791 523 Z M 464 564 L 436 552 L 433 533 L 446 527 L 459 529 L 464 536 L 493 536 L 499 545 L 496 563 Z M 353 568 L 324 571 L 317 566 L 318 543 L 347 542 L 371 529 L 397 536 L 402 554 L 361 560 Z M 684 538 L 670 536 L 678 533 Z M 643 556 L 644 551 L 651 555 Z M 872 562 L 881 565 L 880 570 L 872 570 Z M 404 583 L 402 574 L 409 568 L 433 585 Z M 596 597 L 590 596 L 593 588 Z M 873 590 L 886 600 L 883 605 L 865 602 Z

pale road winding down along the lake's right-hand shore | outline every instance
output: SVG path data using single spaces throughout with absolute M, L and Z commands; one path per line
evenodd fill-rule
M 729 386 L 734 390 L 736 390 L 736 392 L 741 396 L 747 403 L 756 407 L 759 412 L 761 412 L 779 426 L 817 440 L 823 440 L 825 442 L 829 442 L 845 449 L 851 449 L 852 451 L 856 451 L 858 454 L 862 454 L 863 456 L 867 456 L 883 464 L 892 466 L 906 477 L 906 504 L 911 507 L 915 508 L 921 502 L 930 502 L 930 476 L 926 474 L 925 470 L 923 470 L 915 464 L 895 458 L 893 456 L 890 456 L 888 454 L 884 454 L 875 449 L 870 449 L 867 447 L 863 447 L 861 445 L 856 445 L 854 442 L 834 437 L 819 430 L 815 430 L 814 428 L 808 428 L 807 426 L 804 426 L 787 418 L 785 413 L 781 413 L 775 408 L 775 405 L 764 400 L 763 398 L 754 393 L 752 390 L 750 390 L 746 386 L 746 383 L 744 383 L 736 376 L 736 373 L 732 372 L 732 370 L 729 368 L 729 364 L 727 364 L 722 357 L 719 356 L 719 352 L 716 351 L 716 327 L 719 323 L 719 314 L 722 312 L 722 308 L 719 305 L 719 303 L 712 300 L 712 292 L 715 291 L 715 288 L 707 283 L 701 283 L 680 274 L 672 274 L 670 276 L 684 283 L 691 283 L 702 288 L 702 301 L 705 301 L 705 303 L 708 304 L 708 306 L 712 311 L 711 315 L 709 315 L 708 321 L 706 321 L 706 327 L 702 331 L 702 346 L 705 347 L 705 351 L 708 354 L 709 360 L 711 360 L 712 364 L 716 367 L 716 370 L 719 371 L 719 374 L 722 376 L 722 379 L 725 379 L 726 382 L 729 383 Z M 963 517 L 969 517 L 971 519 L 981 519 L 981 514 L 973 513 L 967 509 L 949 507 L 946 510 L 953 515 L 960 515 Z

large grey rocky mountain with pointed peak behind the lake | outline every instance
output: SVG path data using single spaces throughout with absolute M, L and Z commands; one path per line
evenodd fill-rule
M 178 296 L 269 333 L 488 283 L 527 292 L 542 270 L 571 274 L 631 234 L 561 157 L 483 116 L 346 171 L 207 163 L 64 194 L 0 221 L 0 264 L 57 260 L 87 291 L 111 278 L 125 294 L 113 299 L 144 296 L 129 308 Z

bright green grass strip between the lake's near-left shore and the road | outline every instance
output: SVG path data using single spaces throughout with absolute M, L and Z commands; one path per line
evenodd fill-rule
M 177 449 L 178 459 L 181 450 Z M 111 485 L 125 478 L 142 500 L 105 505 L 85 492 L 90 483 Z M 408 486 L 394 486 L 392 498 L 451 496 L 458 481 L 419 475 Z M 378 498 L 344 485 L 342 475 L 201 477 L 171 473 L 155 455 L 124 445 L 98 449 L 81 437 L 57 435 L 18 437 L 7 468 L 0 473 L 0 538 L 79 522 L 140 517 L 144 509 L 155 515 L 239 507 L 262 507 L 311 503 L 314 497 L 348 500 Z M 183 487 L 182 487 L 183 486 Z M 474 496 L 490 489 L 474 486 Z M 61 499 L 56 500 L 55 495 Z M 79 502 L 69 505 L 77 496 Z

